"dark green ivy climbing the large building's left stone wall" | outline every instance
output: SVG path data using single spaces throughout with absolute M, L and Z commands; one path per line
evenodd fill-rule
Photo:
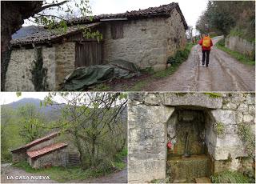
M 45 86 L 47 69 L 43 68 L 42 47 L 35 48 L 34 52 L 36 60 L 34 61 L 33 69 L 30 70 L 32 74 L 32 82 L 34 84 L 34 90 L 43 91 L 48 87 Z

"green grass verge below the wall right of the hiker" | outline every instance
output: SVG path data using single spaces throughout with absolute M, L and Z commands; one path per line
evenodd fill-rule
M 217 42 L 216 46 L 219 50 L 223 50 L 227 54 L 230 54 L 231 56 L 236 58 L 239 62 L 242 62 L 242 63 L 244 63 L 246 65 L 249 65 L 249 66 L 255 66 L 255 60 L 254 59 L 249 58 L 244 54 L 240 54 L 237 51 L 233 51 L 233 50 L 230 50 L 230 49 L 226 48 L 224 38 L 219 40 Z

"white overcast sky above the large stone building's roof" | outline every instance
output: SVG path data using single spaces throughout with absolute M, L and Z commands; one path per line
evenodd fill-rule
M 51 0 L 48 0 L 51 1 Z M 80 0 L 74 0 L 80 1 Z M 127 10 L 139 10 L 149 7 L 166 5 L 171 2 L 178 2 L 182 14 L 186 18 L 189 26 L 195 24 L 204 10 L 206 10 L 207 0 L 90 0 L 91 10 L 96 14 L 117 14 Z M 32 22 L 26 21 L 23 26 L 30 26 Z

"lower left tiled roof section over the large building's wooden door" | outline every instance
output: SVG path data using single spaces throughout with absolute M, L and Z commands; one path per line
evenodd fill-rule
M 58 40 L 63 38 L 63 36 L 70 35 L 70 34 L 76 34 L 78 31 L 82 30 L 82 28 L 85 27 L 93 27 L 97 26 L 100 23 L 90 23 L 84 26 L 68 26 L 66 33 L 62 33 L 61 31 L 57 30 L 39 30 L 35 32 L 34 34 L 27 35 L 22 38 L 14 38 L 10 41 L 11 46 L 17 46 L 17 45 L 26 45 L 31 43 L 45 43 L 50 42 L 54 40 Z

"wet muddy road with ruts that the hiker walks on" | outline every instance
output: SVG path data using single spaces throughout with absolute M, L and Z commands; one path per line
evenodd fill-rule
M 222 37 L 213 38 L 214 45 Z M 154 86 L 154 88 L 152 88 Z M 154 91 L 254 91 L 255 66 L 246 66 L 216 46 L 209 67 L 202 66 L 201 46 L 194 46 L 186 62 L 170 77 L 151 82 Z

